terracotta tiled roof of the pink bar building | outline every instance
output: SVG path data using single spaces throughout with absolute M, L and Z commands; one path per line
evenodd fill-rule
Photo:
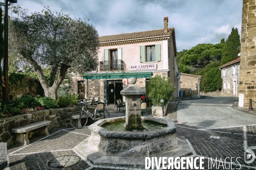
M 99 42 L 111 42 L 111 41 L 119 41 L 119 40 L 131 40 L 136 38 L 170 35 L 173 30 L 174 28 L 168 28 L 167 33 L 164 32 L 164 29 L 158 29 L 158 30 L 133 32 L 133 33 L 126 33 L 126 34 L 106 35 L 106 36 L 100 36 Z

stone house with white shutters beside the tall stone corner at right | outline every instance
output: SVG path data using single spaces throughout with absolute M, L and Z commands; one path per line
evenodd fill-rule
M 222 77 L 221 96 L 238 96 L 240 57 L 220 66 Z

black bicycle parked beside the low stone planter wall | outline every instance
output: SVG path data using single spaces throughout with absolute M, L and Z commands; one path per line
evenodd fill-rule
M 83 128 L 88 122 L 88 117 L 93 122 L 96 122 L 99 119 L 110 118 L 108 111 L 104 108 L 105 104 L 100 101 L 96 102 L 96 108 L 94 113 L 90 113 L 90 111 L 87 110 L 88 105 L 86 104 L 86 102 L 78 103 L 78 107 L 81 109 L 81 111 L 74 112 L 70 117 L 70 125 L 76 129 Z

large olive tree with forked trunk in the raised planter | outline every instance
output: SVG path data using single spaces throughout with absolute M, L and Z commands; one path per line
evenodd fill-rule
M 70 71 L 83 74 L 98 65 L 99 39 L 95 27 L 68 15 L 41 13 L 15 18 L 10 22 L 10 44 L 32 65 L 45 96 L 57 99 L 58 87 Z M 50 68 L 49 83 L 42 65 Z

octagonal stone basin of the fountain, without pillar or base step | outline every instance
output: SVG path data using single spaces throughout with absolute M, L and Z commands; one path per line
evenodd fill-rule
M 141 117 L 143 120 L 166 124 L 157 130 L 145 132 L 111 131 L 101 127 L 109 122 L 122 121 L 124 117 L 100 120 L 89 126 L 89 145 L 105 156 L 151 157 L 177 148 L 176 127 L 173 121 Z

